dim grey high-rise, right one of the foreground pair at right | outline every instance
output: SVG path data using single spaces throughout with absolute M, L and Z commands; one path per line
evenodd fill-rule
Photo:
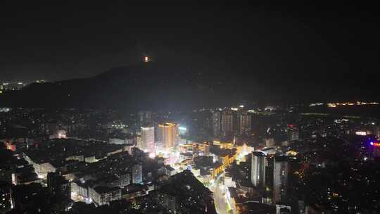
M 273 202 L 286 203 L 288 195 L 289 160 L 275 156 L 273 163 Z

